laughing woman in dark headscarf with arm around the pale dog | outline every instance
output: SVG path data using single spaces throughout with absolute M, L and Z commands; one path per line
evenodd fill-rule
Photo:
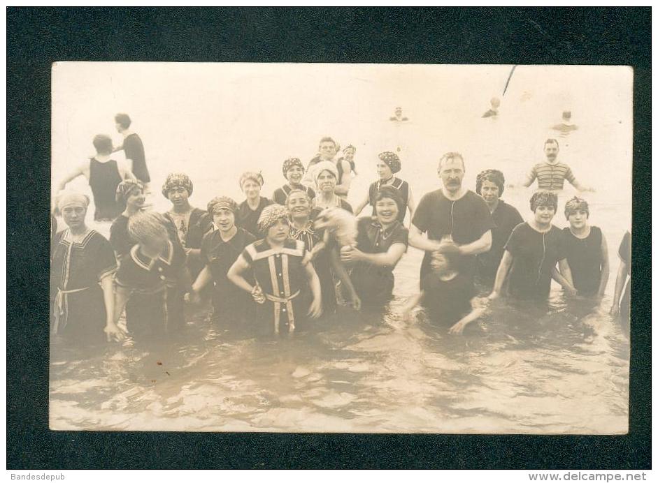
M 382 186 L 374 198 L 375 216 L 359 218 L 356 246 L 341 248 L 341 260 L 352 266 L 352 283 L 364 306 L 383 306 L 392 297 L 393 269 L 408 246 L 409 230 L 398 216 L 399 190 Z

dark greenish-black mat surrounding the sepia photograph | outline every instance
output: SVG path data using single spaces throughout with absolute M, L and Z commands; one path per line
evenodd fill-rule
M 650 27 L 650 8 L 8 8 L 8 468 L 650 468 Z M 633 66 L 628 435 L 50 431 L 50 66 L 64 60 Z

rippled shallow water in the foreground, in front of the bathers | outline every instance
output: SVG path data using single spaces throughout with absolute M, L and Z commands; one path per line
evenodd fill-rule
M 410 253 L 398 272 L 417 270 Z M 408 277 L 413 278 L 413 276 Z M 343 309 L 292 339 L 248 339 L 190 317 L 169 343 L 51 350 L 53 429 L 623 433 L 629 345 L 591 302 L 497 302 L 449 336 L 396 298 Z M 606 306 L 604 302 L 603 306 Z

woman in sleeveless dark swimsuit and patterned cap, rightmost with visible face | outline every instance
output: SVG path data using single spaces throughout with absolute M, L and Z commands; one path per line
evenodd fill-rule
M 573 286 L 583 297 L 603 298 L 610 276 L 608 243 L 601 228 L 591 226 L 587 201 L 574 196 L 564 205 L 569 222 L 564 228 L 566 261 L 571 268 Z

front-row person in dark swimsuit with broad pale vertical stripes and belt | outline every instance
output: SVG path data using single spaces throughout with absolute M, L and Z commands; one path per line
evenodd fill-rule
M 310 318 L 322 315 L 320 279 L 313 264 L 303 263 L 306 255 L 303 241 L 289 236 L 285 207 L 265 207 L 258 225 L 265 238 L 244 249 L 229 269 L 228 277 L 257 302 L 260 334 L 290 334 L 303 328 L 307 315 Z M 255 284 L 245 278 L 249 272 L 255 276 Z

